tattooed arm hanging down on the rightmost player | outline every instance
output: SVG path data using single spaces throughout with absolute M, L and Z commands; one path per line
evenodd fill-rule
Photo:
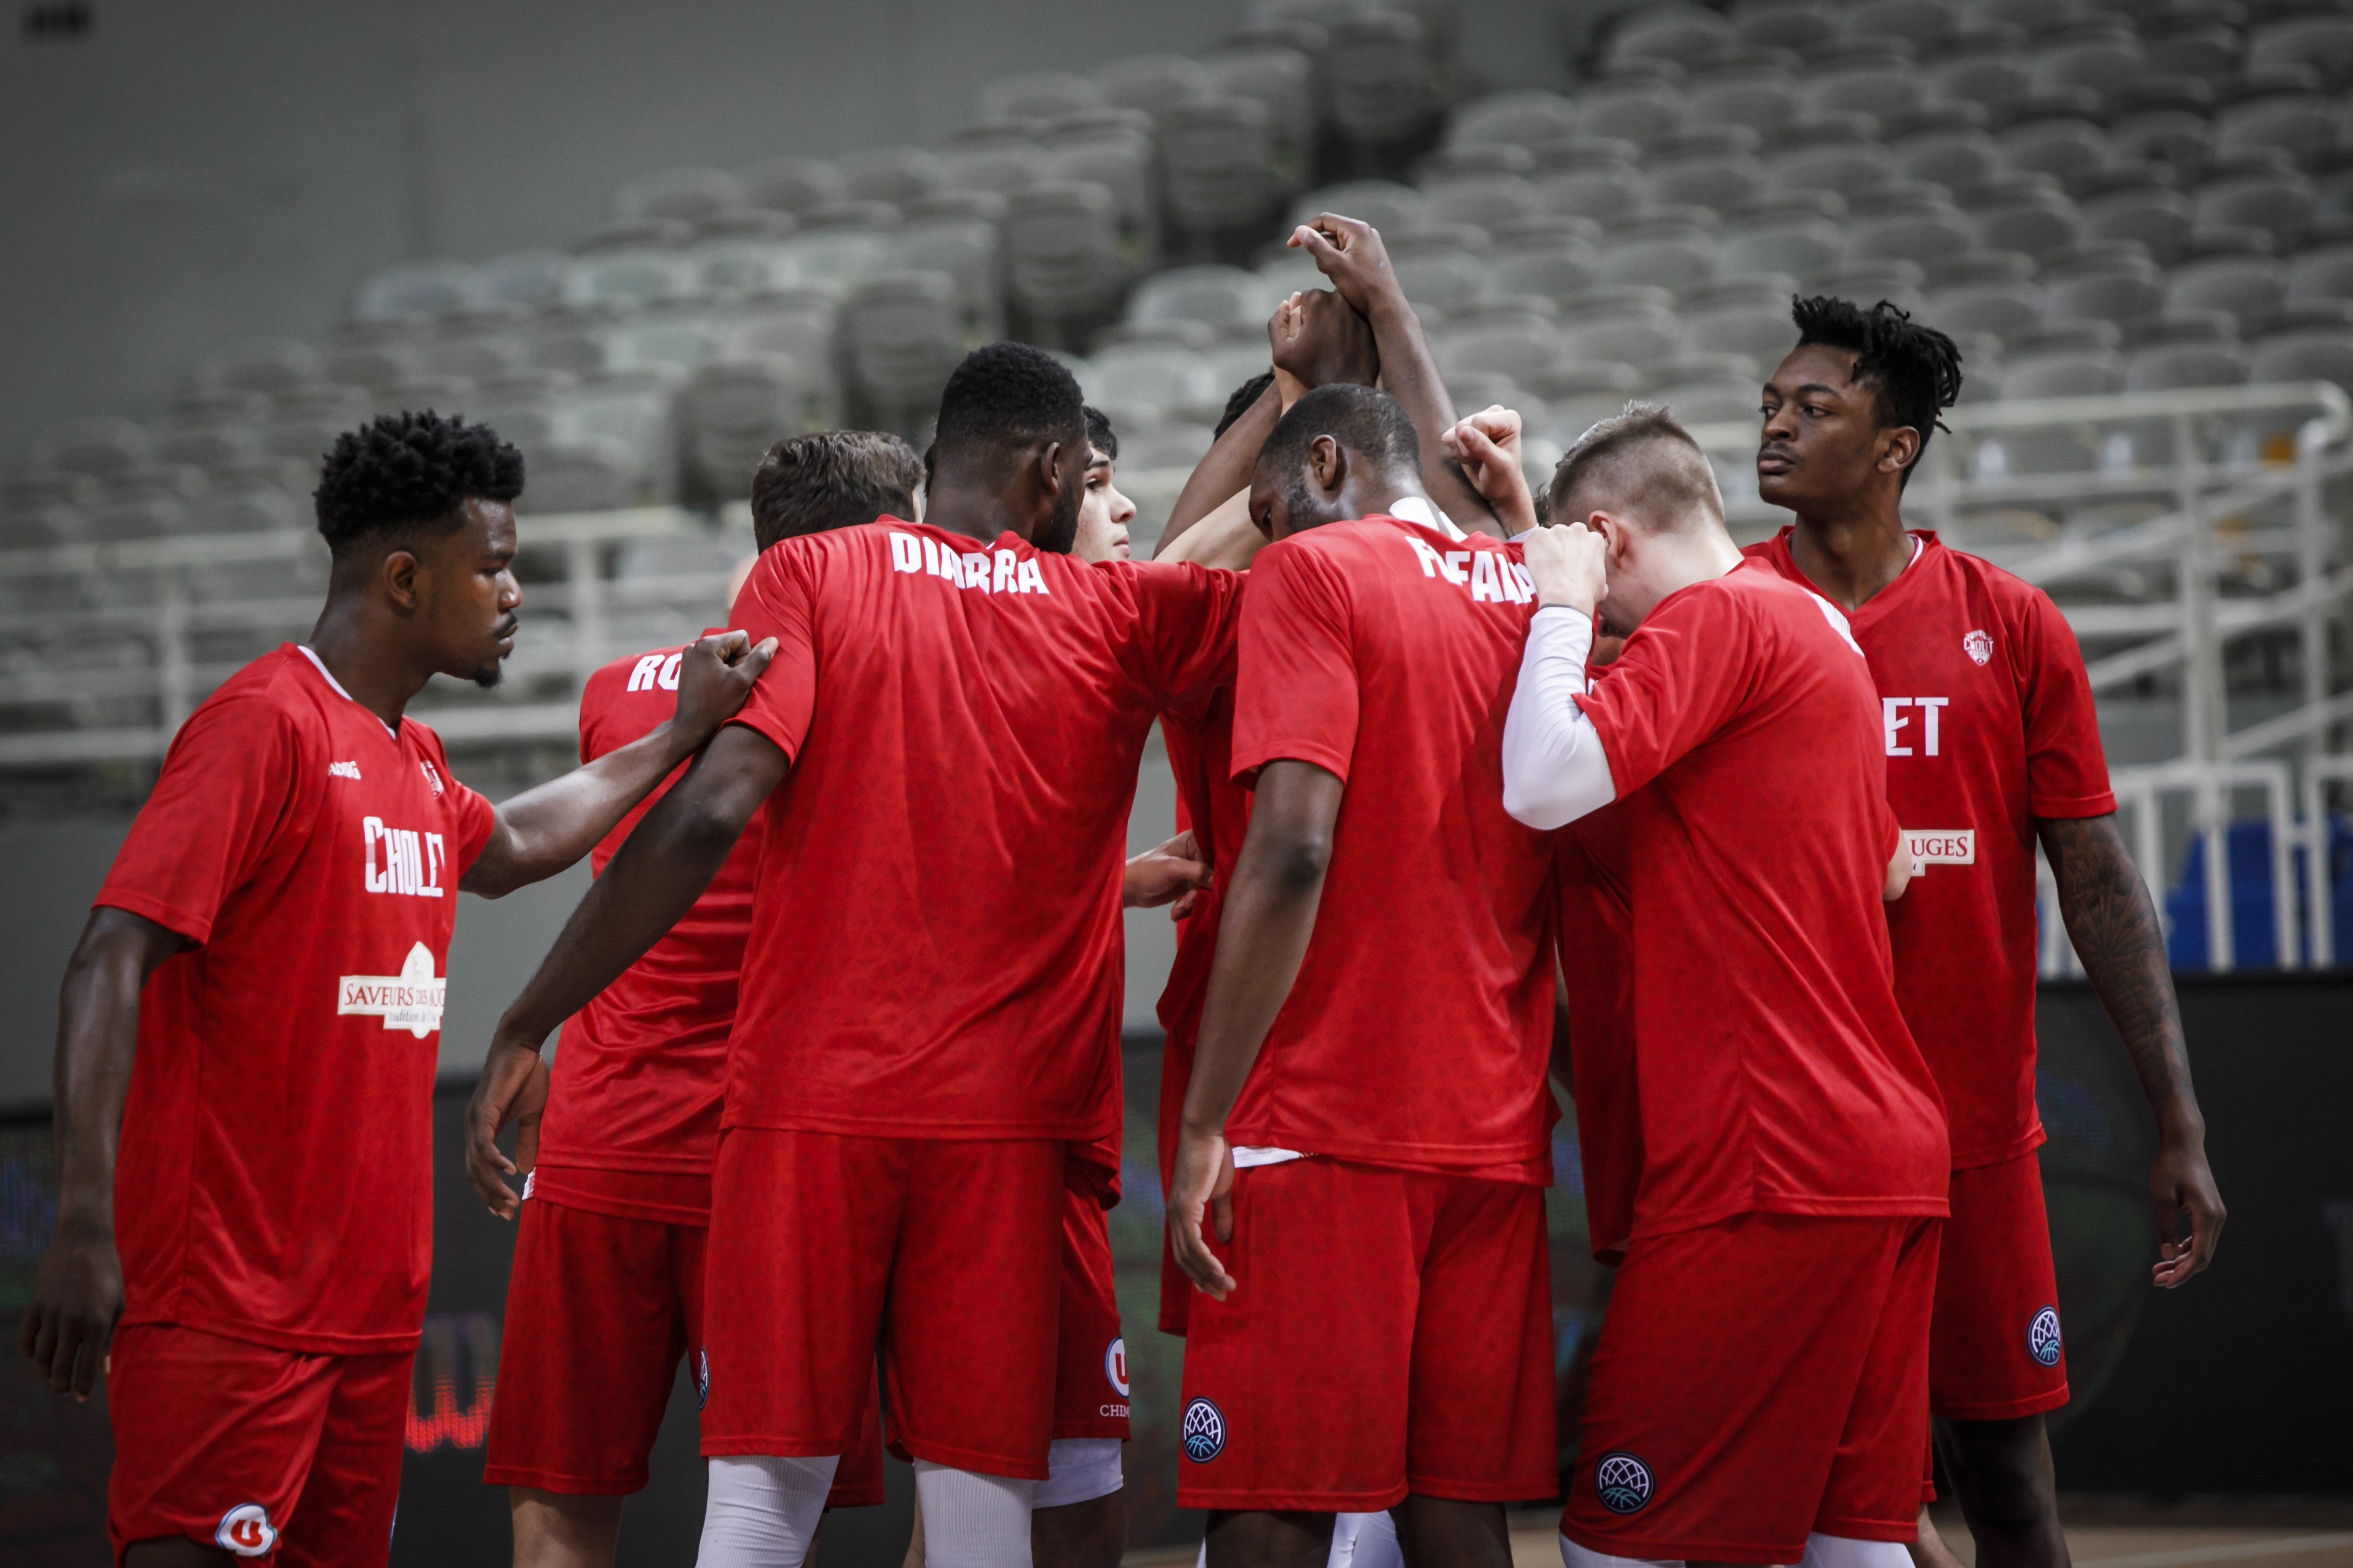
M 2214 1260 L 2224 1206 L 2205 1159 L 2205 1117 L 2191 1088 L 2191 1056 L 2181 1037 L 2181 1006 L 2165 961 L 2158 905 L 2125 853 L 2115 816 L 2038 818 L 2042 853 L 2059 877 L 2059 914 L 2075 957 L 2099 992 L 2115 1032 L 2125 1037 L 2141 1093 L 2158 1112 L 2158 1161 L 2148 1168 L 2148 1201 L 2158 1211 L 2155 1284 L 2172 1288 Z M 2177 1241 L 2181 1211 L 2191 1234 Z

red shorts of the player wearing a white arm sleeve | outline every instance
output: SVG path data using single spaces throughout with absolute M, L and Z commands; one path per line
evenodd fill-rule
M 1748 1213 L 1626 1246 L 1560 1533 L 1635 1559 L 1795 1563 L 1920 1519 L 1941 1220 Z

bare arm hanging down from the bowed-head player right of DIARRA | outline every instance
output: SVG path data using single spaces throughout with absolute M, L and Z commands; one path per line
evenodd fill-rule
M 1202 1227 L 1212 1222 L 1214 1208 L 1219 1241 L 1233 1239 L 1226 1114 L 1306 959 L 1344 795 L 1346 785 L 1313 762 L 1268 762 L 1259 769 L 1249 832 L 1242 835 L 1217 926 L 1209 994 L 1193 1048 L 1193 1084 L 1184 1098 L 1184 1131 L 1176 1135 L 1169 1218 L 1176 1222 L 1176 1267 L 1219 1300 L 1233 1291 L 1233 1276 L 1209 1251 Z

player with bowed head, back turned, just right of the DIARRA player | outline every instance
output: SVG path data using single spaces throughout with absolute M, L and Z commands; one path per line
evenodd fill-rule
M 1252 482 L 1254 802 L 1169 1194 L 1212 1568 L 1322 1563 L 1369 1509 L 1407 1561 L 1501 1566 L 1501 1505 L 1555 1490 L 1551 842 L 1494 748 L 1532 592 L 1499 541 L 1405 520 L 1421 480 L 1398 400 L 1327 386 Z

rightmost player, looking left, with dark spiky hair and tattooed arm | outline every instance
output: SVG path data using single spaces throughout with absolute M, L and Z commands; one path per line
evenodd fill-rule
M 1887 799 L 1920 875 L 1889 914 L 1897 997 L 1953 1126 L 1929 1408 L 1977 1561 L 2066 1561 L 2045 1413 L 2066 1403 L 2035 1147 L 2035 842 L 2075 954 L 2158 1117 L 2153 1281 L 2214 1258 L 2224 1206 L 2191 1091 L 2165 929 L 2115 827 L 2082 654 L 2049 597 L 1901 517 L 1960 395 L 1941 331 L 1798 301 L 1765 386 L 1758 489 L 1798 515 L 1751 555 L 1852 618 L 1882 710 Z M 2188 1229 L 2179 1218 L 2188 1215 Z M 1922 1509 L 1922 1547 L 1934 1528 Z

